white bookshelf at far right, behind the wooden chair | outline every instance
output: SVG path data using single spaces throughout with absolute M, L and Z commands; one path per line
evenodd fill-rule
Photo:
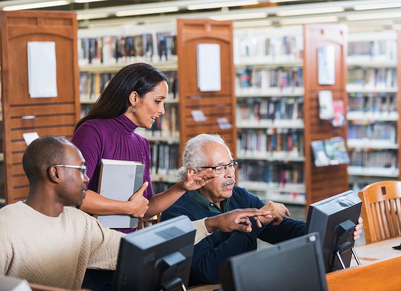
M 348 174 L 356 191 L 399 179 L 397 53 L 395 31 L 349 34 Z

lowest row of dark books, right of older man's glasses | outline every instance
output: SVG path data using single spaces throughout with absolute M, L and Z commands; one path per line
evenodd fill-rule
M 238 179 L 241 181 L 261 181 L 267 183 L 303 183 L 304 168 L 302 163 L 271 163 L 267 161 L 241 161 Z

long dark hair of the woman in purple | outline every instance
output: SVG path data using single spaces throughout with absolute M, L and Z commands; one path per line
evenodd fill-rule
M 110 80 L 89 113 L 78 121 L 74 132 L 86 120 L 121 115 L 131 105 L 128 96 L 132 91 L 142 98 L 161 81 L 167 82 L 166 76 L 150 64 L 138 62 L 123 67 Z

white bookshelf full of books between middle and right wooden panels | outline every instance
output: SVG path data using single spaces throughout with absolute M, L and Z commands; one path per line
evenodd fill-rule
M 302 27 L 237 29 L 238 184 L 264 200 L 306 203 Z

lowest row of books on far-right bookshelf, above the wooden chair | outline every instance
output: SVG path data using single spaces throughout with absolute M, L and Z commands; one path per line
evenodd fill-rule
M 395 150 L 357 151 L 349 152 L 350 165 L 365 167 L 397 167 Z

